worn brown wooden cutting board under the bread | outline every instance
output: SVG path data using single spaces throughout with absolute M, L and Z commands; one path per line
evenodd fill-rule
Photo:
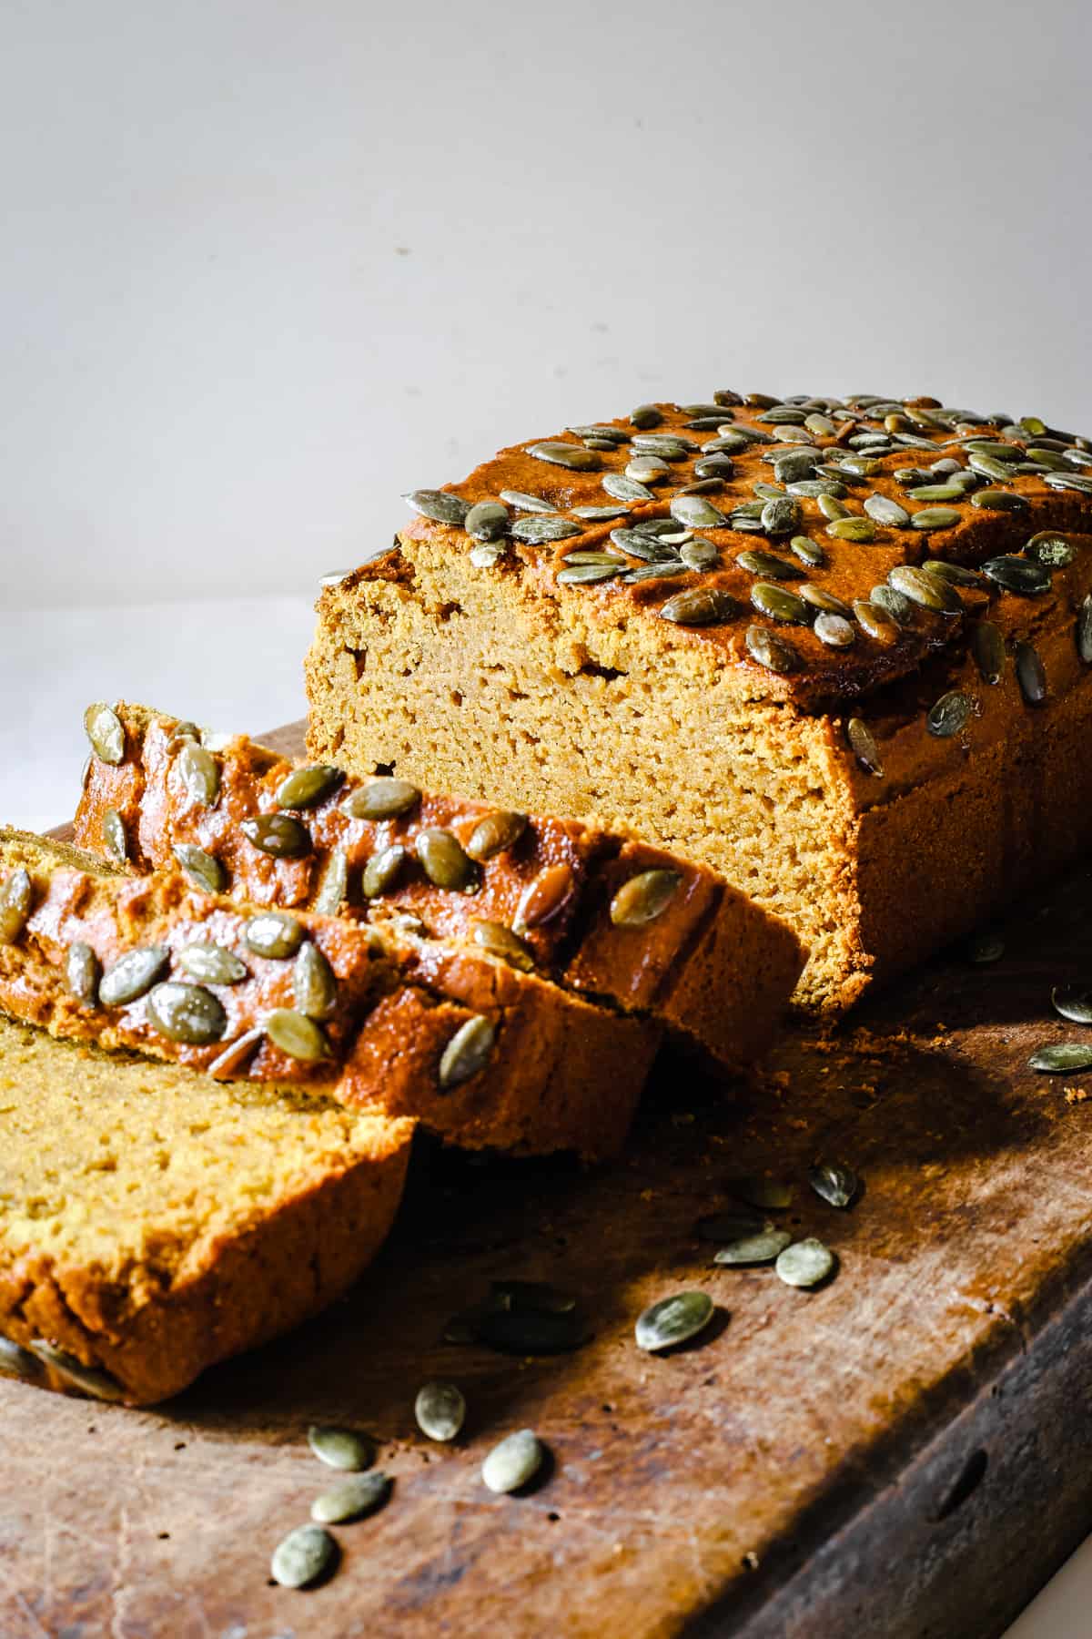
M 1092 977 L 1090 919 L 1082 870 L 1013 911 L 999 962 L 951 956 L 828 1041 L 789 1033 L 750 1087 L 665 1059 L 611 1167 L 422 1144 L 350 1298 L 160 1410 L 0 1380 L 0 1632 L 1000 1634 L 1092 1526 L 1092 1075 L 1027 1069 L 1081 1036 L 1049 993 Z M 848 1213 L 809 1190 L 817 1155 L 860 1170 Z M 694 1236 L 765 1170 L 838 1252 L 822 1290 L 717 1269 Z M 440 1341 L 511 1275 L 576 1292 L 591 1342 Z M 642 1354 L 635 1316 L 688 1287 L 714 1326 Z M 413 1419 L 434 1377 L 470 1405 L 453 1447 Z M 316 1421 L 372 1431 L 395 1490 L 291 1593 L 268 1555 L 329 1478 Z M 548 1472 L 496 1498 L 481 1459 L 524 1426 Z

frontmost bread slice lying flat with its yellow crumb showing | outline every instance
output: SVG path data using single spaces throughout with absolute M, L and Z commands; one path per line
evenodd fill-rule
M 314 1314 L 386 1236 L 413 1126 L 0 1018 L 7 1370 L 147 1405 Z

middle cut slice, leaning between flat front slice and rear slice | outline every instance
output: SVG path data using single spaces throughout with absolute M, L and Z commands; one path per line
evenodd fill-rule
M 660 1033 L 481 951 L 262 911 L 0 831 L 0 1010 L 213 1078 L 291 1082 L 450 1142 L 617 1151 Z

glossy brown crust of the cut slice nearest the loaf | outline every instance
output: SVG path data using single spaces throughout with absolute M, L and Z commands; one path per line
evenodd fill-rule
M 349 780 L 298 811 L 309 833 L 308 854 L 272 859 L 247 841 L 242 823 L 277 811 L 277 792 L 291 764 L 241 736 L 229 741 L 216 754 L 219 792 L 210 808 L 188 800 L 177 775 L 183 744 L 177 720 L 136 706 L 120 706 L 118 715 L 124 760 L 93 759 L 75 836 L 87 847 L 102 847 L 103 815 L 115 810 L 138 869 L 170 862 L 178 844 L 198 844 L 224 867 L 234 893 L 306 906 L 339 849 L 349 870 L 347 915 L 375 919 L 391 908 L 408 911 L 431 933 L 457 942 L 473 941 L 478 921 L 521 926 L 527 949 L 555 982 L 647 1015 L 729 1065 L 748 1062 L 768 1044 L 799 977 L 802 952 L 783 923 L 709 869 L 594 823 L 532 815 L 509 847 L 475 867 L 475 892 L 445 890 L 416 862 L 417 836 L 440 828 L 473 849 L 475 829 L 496 806 L 424 792 L 401 816 L 349 818 L 347 797 L 367 783 Z M 362 869 L 393 846 L 406 851 L 403 874 L 368 905 L 360 893 Z M 640 926 L 616 924 L 614 895 L 648 870 L 678 879 L 670 901 Z M 539 910 L 548 913 L 540 921 L 529 911 L 527 895 L 537 895 Z

